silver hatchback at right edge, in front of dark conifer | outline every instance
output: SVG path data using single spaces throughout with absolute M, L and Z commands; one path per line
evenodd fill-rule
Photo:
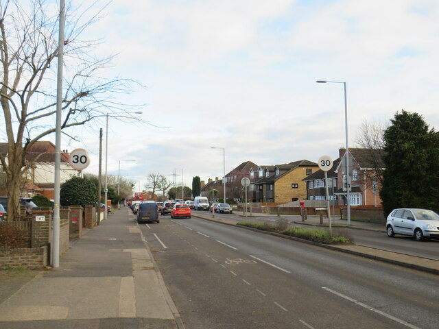
M 410 235 L 416 241 L 423 241 L 425 237 L 439 238 L 439 215 L 427 209 L 395 209 L 387 217 L 385 230 L 389 237 Z

